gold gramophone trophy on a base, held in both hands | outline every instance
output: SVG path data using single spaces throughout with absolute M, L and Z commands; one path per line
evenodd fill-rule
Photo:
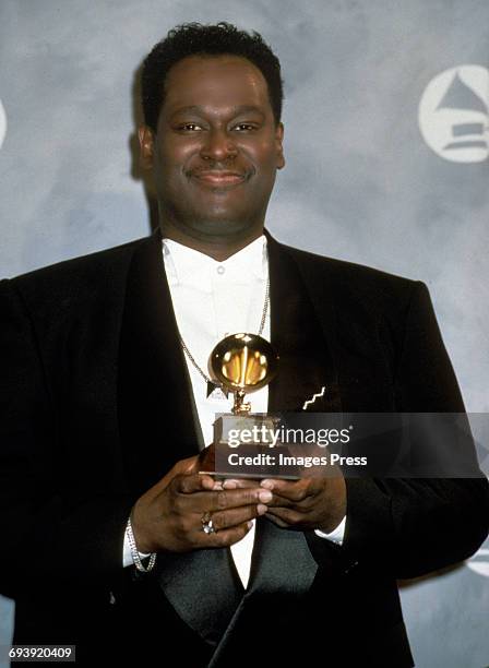
M 266 455 L 271 442 L 266 438 L 275 429 L 278 417 L 250 414 L 246 395 L 267 385 L 278 370 L 278 356 L 272 345 L 257 334 L 231 334 L 223 338 L 208 358 L 212 380 L 225 392 L 231 392 L 231 413 L 219 415 L 214 422 L 214 441 L 201 453 L 200 473 L 218 478 L 263 478 L 274 474 L 270 466 L 257 464 L 257 455 Z M 235 434 L 247 434 L 239 441 Z M 234 438 L 230 438 L 234 434 Z M 251 434 L 251 438 L 250 436 Z M 255 457 L 255 464 L 231 465 L 230 454 Z M 270 458 L 270 457 L 269 457 Z

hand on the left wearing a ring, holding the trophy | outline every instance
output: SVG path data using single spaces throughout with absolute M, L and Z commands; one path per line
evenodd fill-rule
M 141 552 L 228 547 L 246 536 L 251 520 L 266 512 L 272 492 L 258 486 L 225 489 L 199 474 L 198 462 L 198 456 L 178 462 L 135 502 L 131 522 Z M 216 533 L 202 530 L 204 513 L 211 514 Z

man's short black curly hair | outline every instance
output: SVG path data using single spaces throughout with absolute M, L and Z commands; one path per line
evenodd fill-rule
M 284 99 L 281 62 L 257 33 L 238 29 L 230 23 L 214 25 L 183 23 L 168 32 L 143 62 L 141 97 L 144 121 L 156 132 L 159 111 L 165 100 L 165 80 L 170 68 L 189 56 L 232 55 L 247 58 L 263 74 L 275 122 L 282 117 Z

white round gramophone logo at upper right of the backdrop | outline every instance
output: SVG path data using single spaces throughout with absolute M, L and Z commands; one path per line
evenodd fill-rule
M 465 64 L 437 74 L 418 110 L 422 138 L 437 155 L 454 163 L 489 157 L 489 70 Z

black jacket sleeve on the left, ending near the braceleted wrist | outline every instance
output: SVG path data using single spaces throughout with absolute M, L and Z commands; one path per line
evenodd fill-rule
M 22 298 L 0 283 L 0 588 L 15 597 L 32 581 L 105 578 L 122 568 L 133 499 L 63 493 L 59 408 L 50 395 Z

